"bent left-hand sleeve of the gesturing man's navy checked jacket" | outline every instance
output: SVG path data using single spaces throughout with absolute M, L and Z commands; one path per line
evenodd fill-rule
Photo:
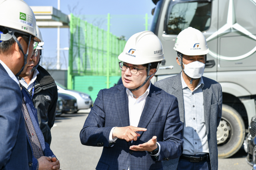
M 113 127 L 105 127 L 105 118 L 103 90 L 100 90 L 80 131 L 82 145 L 109 147 L 109 134 Z

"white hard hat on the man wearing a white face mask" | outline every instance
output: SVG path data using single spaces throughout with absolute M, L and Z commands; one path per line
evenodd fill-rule
M 202 32 L 192 27 L 179 33 L 173 49 L 184 55 L 206 55 L 209 52 Z

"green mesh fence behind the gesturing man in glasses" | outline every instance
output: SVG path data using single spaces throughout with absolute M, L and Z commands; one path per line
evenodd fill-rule
M 110 14 L 103 17 L 95 20 L 94 16 L 91 20 L 90 16 L 70 15 L 68 89 L 90 94 L 93 100 L 99 90 L 112 87 L 121 77 L 118 55 L 126 44 L 125 36 L 117 37 L 110 33 Z M 85 20 L 91 20 L 93 24 Z M 147 22 L 147 14 L 111 16 L 111 28 L 120 33 L 126 25 L 140 27 L 139 30 L 144 31 L 148 27 Z

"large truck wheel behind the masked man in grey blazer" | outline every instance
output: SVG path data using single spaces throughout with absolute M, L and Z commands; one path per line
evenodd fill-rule
M 218 157 L 228 158 L 244 143 L 245 125 L 240 114 L 232 107 L 222 105 L 222 118 L 217 128 Z

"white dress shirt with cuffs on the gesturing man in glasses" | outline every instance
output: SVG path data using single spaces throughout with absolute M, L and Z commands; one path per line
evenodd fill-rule
M 132 92 L 128 88 L 126 88 L 126 93 L 128 95 L 130 126 L 138 127 L 138 124 L 139 124 L 139 121 L 140 121 L 140 116 L 142 114 L 142 111 L 143 111 L 145 103 L 146 103 L 146 99 L 147 99 L 148 94 L 149 94 L 150 85 L 151 85 L 151 82 L 150 82 L 146 92 L 144 94 L 142 94 L 142 96 L 140 96 L 137 100 L 136 100 L 136 98 L 133 97 Z M 117 139 L 117 138 L 112 139 L 112 134 L 113 134 L 113 131 L 114 131 L 115 128 L 116 127 L 113 127 L 110 131 L 109 143 L 113 143 Z M 160 154 L 161 147 L 160 147 L 160 144 L 158 142 L 157 142 L 157 144 L 159 146 L 159 151 L 158 151 L 157 154 L 152 155 L 152 156 L 159 156 L 159 154 Z M 129 170 L 129 168 L 128 168 L 128 170 Z

